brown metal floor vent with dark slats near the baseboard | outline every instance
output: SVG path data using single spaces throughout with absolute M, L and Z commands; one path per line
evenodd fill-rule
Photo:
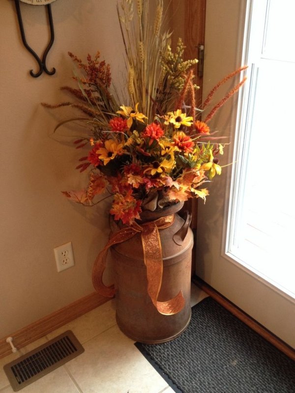
M 65 364 L 84 352 L 70 330 L 4 365 L 3 369 L 14 392 Z

